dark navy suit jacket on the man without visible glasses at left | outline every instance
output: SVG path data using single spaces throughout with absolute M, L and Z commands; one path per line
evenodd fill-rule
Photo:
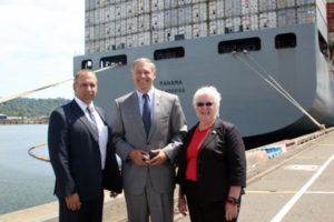
M 97 107 L 96 110 L 108 125 L 105 112 Z M 121 179 L 110 139 L 102 172 L 98 135 L 75 100 L 51 113 L 48 143 L 58 198 L 78 192 L 80 200 L 94 200 L 104 188 L 121 192 Z

